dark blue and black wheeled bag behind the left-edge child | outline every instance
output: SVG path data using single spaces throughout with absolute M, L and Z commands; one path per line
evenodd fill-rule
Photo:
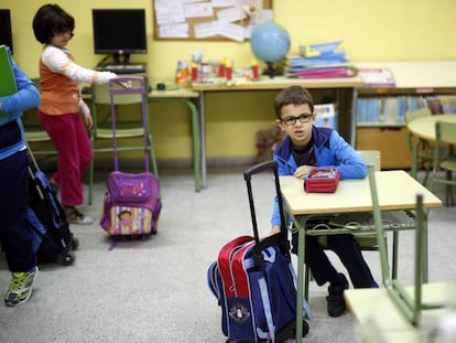
M 69 229 L 65 211 L 46 175 L 29 152 L 29 207 L 25 224 L 31 231 L 39 264 L 61 262 L 70 266 L 79 240 Z

